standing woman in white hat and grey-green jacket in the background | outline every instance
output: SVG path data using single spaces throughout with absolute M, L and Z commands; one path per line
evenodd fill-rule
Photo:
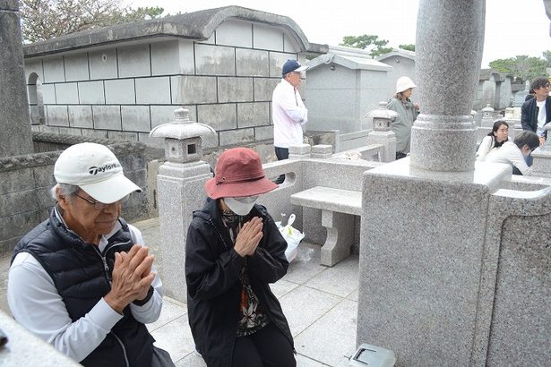
M 411 126 L 418 115 L 418 105 L 411 102 L 411 95 L 416 85 L 407 76 L 396 81 L 396 94 L 389 101 L 387 108 L 398 113 L 392 122 L 392 132 L 396 135 L 396 159 L 404 158 L 409 153 L 411 140 Z

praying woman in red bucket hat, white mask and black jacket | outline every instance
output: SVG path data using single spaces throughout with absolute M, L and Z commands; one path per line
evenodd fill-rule
M 287 273 L 287 243 L 259 195 L 278 185 L 252 149 L 224 151 L 209 199 L 187 231 L 189 324 L 209 367 L 296 366 L 293 337 L 269 284 Z

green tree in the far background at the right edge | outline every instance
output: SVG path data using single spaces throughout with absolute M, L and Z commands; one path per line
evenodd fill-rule
M 547 75 L 547 67 L 551 67 L 551 51 L 543 53 L 544 58 L 528 55 L 516 55 L 506 59 L 490 62 L 490 67 L 500 73 L 509 73 L 523 81 L 532 80 Z

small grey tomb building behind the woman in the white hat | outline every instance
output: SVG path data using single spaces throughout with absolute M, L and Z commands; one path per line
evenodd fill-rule
M 336 151 L 366 145 L 373 128 L 366 114 L 388 99 L 384 86 L 392 68 L 351 47 L 330 47 L 308 65 L 306 129 L 339 132 Z

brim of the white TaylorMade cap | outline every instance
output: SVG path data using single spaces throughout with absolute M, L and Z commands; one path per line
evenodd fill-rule
M 100 183 L 88 183 L 79 186 L 92 198 L 105 204 L 123 199 L 132 192 L 142 192 L 142 189 L 125 175 L 114 175 Z

